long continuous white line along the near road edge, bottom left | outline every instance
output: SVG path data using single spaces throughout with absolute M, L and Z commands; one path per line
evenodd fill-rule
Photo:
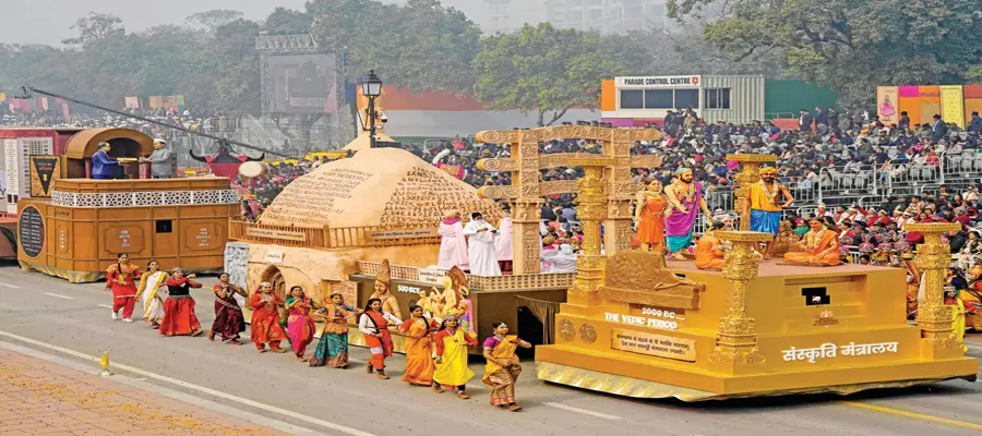
M 86 361 L 89 361 L 89 362 L 99 362 L 99 361 L 101 360 L 100 358 L 96 358 L 96 356 L 93 356 L 93 355 L 80 353 L 80 352 L 74 351 L 74 350 L 69 350 L 69 349 L 67 349 L 67 348 L 58 347 L 58 346 L 55 346 L 55 344 L 51 344 L 51 343 L 47 343 L 47 342 L 41 342 L 41 341 L 34 340 L 34 339 L 31 339 L 31 338 L 25 338 L 25 337 L 23 337 L 23 336 L 14 335 L 14 334 L 7 332 L 7 331 L 2 331 L 2 330 L 0 330 L 0 336 L 8 337 L 8 338 L 11 338 L 11 339 L 21 341 L 21 342 L 26 342 L 26 343 L 29 343 L 29 344 L 33 344 L 33 346 L 36 346 L 36 347 L 46 348 L 46 349 L 48 349 L 48 350 L 57 351 L 57 352 L 59 352 L 59 353 L 69 354 L 69 355 L 72 355 L 72 356 L 75 356 L 75 358 L 79 358 L 79 359 L 82 359 L 82 360 L 86 360 Z M 263 404 L 263 403 L 261 403 L 261 402 L 252 401 L 252 400 L 250 400 L 250 399 L 248 399 L 248 398 L 236 397 L 236 396 L 230 395 L 230 393 L 225 393 L 225 392 L 223 392 L 223 391 L 218 391 L 218 390 L 215 390 L 215 389 L 206 388 L 206 387 L 204 387 L 204 386 L 197 386 L 197 385 L 194 385 L 194 384 L 191 384 L 191 383 L 188 383 L 188 382 L 179 380 L 179 379 L 177 379 L 177 378 L 171 378 L 171 377 L 168 377 L 168 376 L 158 375 L 158 374 L 156 374 L 156 373 L 152 373 L 152 372 L 149 372 L 149 371 L 140 370 L 140 368 L 137 368 L 137 367 L 133 367 L 133 366 L 130 366 L 130 365 L 123 365 L 123 364 L 121 364 L 121 363 L 113 363 L 113 364 L 112 364 L 112 367 L 117 367 L 117 368 L 120 368 L 120 370 L 122 370 L 122 371 L 125 371 L 125 372 L 129 372 L 129 373 L 133 373 L 133 374 L 137 374 L 137 375 L 141 375 L 141 376 L 147 377 L 147 378 L 153 378 L 153 379 L 157 379 L 157 380 L 160 380 L 160 382 L 166 382 L 166 383 L 169 383 L 169 384 L 172 384 L 172 385 L 180 386 L 180 387 L 182 387 L 182 388 L 196 390 L 196 391 L 199 391 L 199 392 L 206 393 L 206 395 L 214 396 L 214 397 L 218 397 L 218 398 L 221 398 L 221 399 L 225 399 L 225 400 L 235 401 L 235 402 L 238 402 L 238 403 L 240 403 L 240 404 L 249 405 L 249 407 L 251 407 L 251 408 L 264 410 L 264 411 L 267 411 L 267 412 L 271 412 L 271 413 L 276 413 L 276 414 L 279 414 L 279 415 L 284 415 L 284 416 L 289 416 L 289 417 L 292 417 L 292 419 L 295 419 L 295 420 L 300 420 L 300 421 L 304 421 L 304 422 L 308 422 L 308 423 L 311 423 L 311 424 L 314 424 L 314 425 L 320 425 L 320 426 L 322 426 L 322 427 L 335 429 L 335 431 L 338 431 L 338 432 L 342 432 L 342 433 L 346 433 L 346 434 L 349 434 L 349 435 L 352 435 L 352 436 L 375 436 L 375 435 L 373 435 L 373 434 L 371 434 L 371 433 L 366 433 L 366 432 L 362 432 L 362 431 L 357 429 L 357 428 L 351 428 L 351 427 L 347 427 L 347 426 L 344 426 L 344 425 L 340 425 L 340 424 L 335 424 L 335 423 L 327 422 L 327 421 L 324 421 L 324 420 L 319 420 L 319 419 L 316 419 L 316 417 L 307 416 L 307 415 L 303 415 L 303 414 L 300 414 L 300 413 L 297 413 L 297 412 L 294 412 L 294 411 L 289 411 L 289 410 L 286 410 L 286 409 L 280 409 L 280 408 L 274 407 L 274 405 Z M 561 408 L 561 409 L 562 409 L 562 408 Z M 603 416 L 609 416 L 609 415 L 603 415 Z M 602 416 L 601 416 L 601 417 L 602 417 Z

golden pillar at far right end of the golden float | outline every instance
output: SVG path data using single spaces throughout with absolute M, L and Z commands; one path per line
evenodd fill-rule
M 951 266 L 951 247 L 942 241 L 949 231 L 961 230 L 957 222 L 907 225 L 907 231 L 920 232 L 924 243 L 918 245 L 918 267 L 924 272 L 924 302 L 918 305 L 921 327 L 921 356 L 951 359 L 965 355 L 953 328 L 951 307 L 945 305 L 945 277 Z

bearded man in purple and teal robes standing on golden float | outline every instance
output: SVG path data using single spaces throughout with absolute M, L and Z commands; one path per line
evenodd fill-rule
M 695 181 L 691 169 L 679 168 L 674 175 L 672 184 L 664 187 L 664 196 L 669 202 L 664 213 L 664 234 L 672 257 L 685 261 L 682 251 L 692 244 L 692 233 L 699 210 L 707 217 L 711 217 L 712 213 L 706 206 L 703 186 Z

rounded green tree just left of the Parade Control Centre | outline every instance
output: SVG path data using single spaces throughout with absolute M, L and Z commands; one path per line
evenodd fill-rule
M 536 112 L 540 126 L 559 121 L 574 106 L 596 108 L 600 81 L 625 72 L 600 40 L 596 33 L 549 23 L 484 38 L 475 59 L 475 95 L 495 110 Z

